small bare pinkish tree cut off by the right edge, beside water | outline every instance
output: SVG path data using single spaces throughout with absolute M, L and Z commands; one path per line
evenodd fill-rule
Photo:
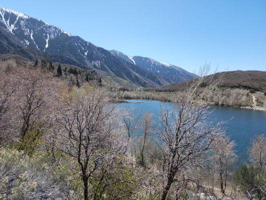
M 260 167 L 262 171 L 266 169 L 266 137 L 261 134 L 253 140 L 249 149 L 250 161 L 253 165 Z

